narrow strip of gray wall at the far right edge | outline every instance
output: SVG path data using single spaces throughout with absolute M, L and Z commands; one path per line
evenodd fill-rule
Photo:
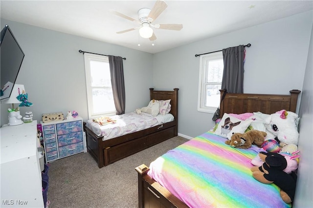
M 300 162 L 298 167 L 298 181 L 296 187 L 293 207 L 310 208 L 313 206 L 313 29 L 311 31 L 311 42 L 308 53 L 308 62 L 302 89 L 301 105 L 299 110 L 300 139 L 298 148 L 300 150 Z

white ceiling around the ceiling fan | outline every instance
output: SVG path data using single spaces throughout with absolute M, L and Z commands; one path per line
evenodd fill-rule
M 137 11 L 152 8 L 155 0 L 1 0 L 0 15 L 10 21 L 157 53 L 313 9 L 313 0 L 166 0 L 166 3 L 167 8 L 154 23 L 181 23 L 183 28 L 154 29 L 157 37 L 154 46 L 149 39 L 139 38 L 138 30 L 116 34 L 138 23 L 109 10 L 137 19 Z

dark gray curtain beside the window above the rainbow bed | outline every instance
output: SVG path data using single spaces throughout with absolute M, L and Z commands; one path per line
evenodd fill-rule
M 245 46 L 223 49 L 223 59 L 222 89 L 229 93 L 244 93 Z

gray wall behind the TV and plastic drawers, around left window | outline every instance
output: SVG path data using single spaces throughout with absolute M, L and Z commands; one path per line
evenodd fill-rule
M 1 19 L 8 24 L 21 45 L 25 57 L 16 83 L 24 84 L 30 107 L 21 107 L 21 115 L 32 111 L 33 120 L 43 113 L 76 110 L 88 119 L 84 56 L 78 50 L 126 57 L 123 61 L 126 112 L 149 103 L 153 87 L 153 55 L 141 51 L 68 35 L 40 27 Z M 7 124 L 10 104 L 1 104 L 1 126 Z

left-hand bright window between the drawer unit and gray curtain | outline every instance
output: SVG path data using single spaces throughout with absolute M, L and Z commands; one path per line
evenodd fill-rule
M 89 119 L 115 115 L 109 57 L 84 53 Z

